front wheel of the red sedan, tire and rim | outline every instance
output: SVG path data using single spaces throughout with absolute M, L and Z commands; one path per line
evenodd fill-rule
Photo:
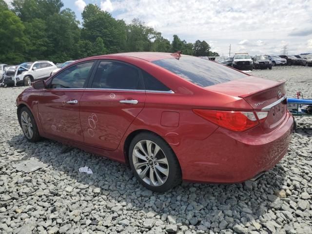
M 41 137 L 35 118 L 27 107 L 23 107 L 19 111 L 19 121 L 24 136 L 29 142 L 37 142 L 40 140 Z

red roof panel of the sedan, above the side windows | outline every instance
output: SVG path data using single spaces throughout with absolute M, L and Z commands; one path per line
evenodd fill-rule
M 129 53 L 118 53 L 111 55 L 101 55 L 92 57 L 94 59 L 104 59 L 104 58 L 116 58 L 117 56 L 123 57 L 133 57 L 137 59 L 144 59 L 146 61 L 155 61 L 159 59 L 172 59 L 176 58 L 177 54 L 175 53 L 162 53 L 162 52 L 129 52 Z M 190 57 L 188 55 L 181 55 L 181 57 Z M 90 58 L 89 58 L 90 59 Z

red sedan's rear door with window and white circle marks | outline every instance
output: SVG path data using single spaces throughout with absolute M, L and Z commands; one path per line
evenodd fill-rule
M 80 99 L 85 144 L 115 150 L 145 104 L 140 70 L 128 63 L 101 60 Z

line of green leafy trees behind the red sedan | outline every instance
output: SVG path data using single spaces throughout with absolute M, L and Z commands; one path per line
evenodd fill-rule
M 172 42 L 153 27 L 134 19 L 116 20 L 98 5 L 88 4 L 82 24 L 61 0 L 0 0 L 0 63 L 18 64 L 48 59 L 64 62 L 120 52 L 176 52 L 218 56 L 206 41 L 188 43 L 177 35 Z

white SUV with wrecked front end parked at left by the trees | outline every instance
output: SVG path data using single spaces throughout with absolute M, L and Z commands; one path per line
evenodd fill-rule
M 16 85 L 29 86 L 35 80 L 49 78 L 55 69 L 57 66 L 51 61 L 25 62 L 18 66 L 14 79 Z

